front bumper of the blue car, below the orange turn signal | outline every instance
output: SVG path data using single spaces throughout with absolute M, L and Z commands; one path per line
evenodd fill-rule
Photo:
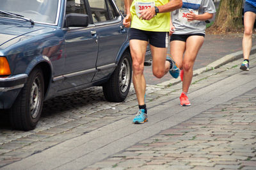
M 9 109 L 28 79 L 27 74 L 0 78 L 0 109 Z

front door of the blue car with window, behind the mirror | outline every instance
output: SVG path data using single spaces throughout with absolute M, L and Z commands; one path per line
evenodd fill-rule
M 66 15 L 68 13 L 82 13 L 88 15 L 88 6 L 84 0 L 67 0 Z M 65 88 L 71 88 L 92 81 L 96 72 L 98 54 L 98 37 L 95 25 L 89 23 L 87 27 L 67 27 L 65 33 Z

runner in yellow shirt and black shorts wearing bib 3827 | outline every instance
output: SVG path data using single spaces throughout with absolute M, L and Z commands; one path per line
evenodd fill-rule
M 179 76 L 174 61 L 166 59 L 170 12 L 182 6 L 182 0 L 124 0 L 127 16 L 123 24 L 130 27 L 129 45 L 132 56 L 132 81 L 138 99 L 139 111 L 133 123 L 148 121 L 145 104 L 146 81 L 143 74 L 148 43 L 152 54 L 152 71 L 157 78 L 167 72 Z M 132 23 L 132 24 L 131 24 Z M 167 61 L 166 61 L 167 60 Z M 177 70 L 176 70 L 177 68 Z M 177 74 L 178 73 L 178 74 Z

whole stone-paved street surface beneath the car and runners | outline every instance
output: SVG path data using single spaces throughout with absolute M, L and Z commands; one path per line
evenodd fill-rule
M 190 107 L 179 106 L 179 79 L 148 85 L 143 125 L 131 123 L 133 88 L 122 103 L 100 87 L 48 100 L 29 132 L 1 117 L 0 169 L 256 169 L 255 50 L 250 72 L 233 61 L 241 52 L 196 70 Z

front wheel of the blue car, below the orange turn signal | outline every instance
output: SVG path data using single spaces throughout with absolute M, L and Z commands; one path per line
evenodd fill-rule
M 43 102 L 44 75 L 40 68 L 35 68 L 10 109 L 12 127 L 15 130 L 33 130 L 41 116 Z

